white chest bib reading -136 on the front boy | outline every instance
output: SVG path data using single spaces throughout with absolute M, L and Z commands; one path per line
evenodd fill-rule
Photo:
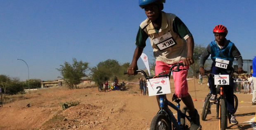
M 173 39 L 173 36 L 171 35 L 171 33 L 166 33 L 159 38 L 153 39 L 153 43 L 156 45 L 156 47 L 160 51 L 170 48 L 177 44 Z

